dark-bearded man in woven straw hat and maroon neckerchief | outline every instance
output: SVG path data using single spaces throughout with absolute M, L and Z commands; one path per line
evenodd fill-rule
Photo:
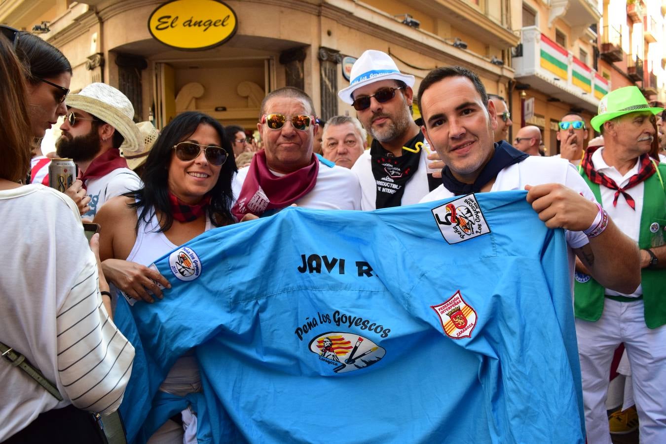
M 56 143 L 58 156 L 71 158 L 79 168 L 79 179 L 90 196 L 93 218 L 110 198 L 141 188 L 141 180 L 121 157 L 141 152 L 143 136 L 133 122 L 134 107 L 127 97 L 105 83 L 92 83 L 79 94 L 69 95 L 63 134 Z

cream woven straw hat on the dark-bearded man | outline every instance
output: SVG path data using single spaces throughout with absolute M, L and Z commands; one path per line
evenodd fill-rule
M 79 94 L 70 94 L 65 105 L 93 114 L 120 132 L 125 141 L 121 148 L 126 153 L 143 150 L 143 136 L 132 120 L 134 107 L 123 93 L 106 83 L 91 83 Z

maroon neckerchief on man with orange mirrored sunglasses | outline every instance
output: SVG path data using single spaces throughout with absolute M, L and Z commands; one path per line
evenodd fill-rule
M 261 150 L 252 157 L 248 174 L 231 212 L 236 220 L 241 220 L 248 213 L 261 217 L 267 210 L 281 210 L 314 188 L 318 172 L 319 161 L 312 154 L 308 166 L 281 177 L 275 176 L 268 170 L 266 152 Z

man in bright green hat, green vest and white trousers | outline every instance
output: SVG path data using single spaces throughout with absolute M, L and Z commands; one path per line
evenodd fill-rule
M 597 202 L 638 244 L 641 268 L 641 285 L 633 292 L 613 291 L 584 269 L 576 276 L 589 443 L 611 443 L 605 401 L 611 359 L 621 343 L 631 365 L 641 442 L 666 443 L 666 166 L 649 156 L 657 136 L 653 118 L 661 112 L 637 87 L 611 91 L 591 120 L 603 134 L 603 146 L 588 146 L 580 165 Z

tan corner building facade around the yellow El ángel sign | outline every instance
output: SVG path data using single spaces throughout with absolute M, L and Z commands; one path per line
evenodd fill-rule
M 222 18 L 214 12 L 218 1 L 168 3 L 179 7 L 170 13 L 178 23 Z M 196 15 L 197 3 L 210 9 Z M 348 85 L 345 69 L 366 49 L 392 55 L 401 71 L 416 77 L 416 88 L 436 66 L 463 65 L 479 73 L 489 92 L 506 95 L 513 79 L 509 54 L 519 41 L 509 3 L 228 0 L 235 33 L 202 51 L 153 37 L 149 17 L 164 1 L 16 0 L 0 6 L 0 23 L 48 29 L 41 37 L 73 66 L 72 91 L 109 83 L 131 99 L 136 120 L 152 119 L 161 128 L 178 112 L 198 110 L 252 130 L 264 95 L 286 85 L 304 89 L 324 119 L 354 115 L 336 93 Z

